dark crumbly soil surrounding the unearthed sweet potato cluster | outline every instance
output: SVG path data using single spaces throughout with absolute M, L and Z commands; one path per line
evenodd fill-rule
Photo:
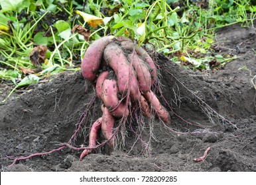
M 64 148 L 13 166 L 15 157 L 58 149 L 86 115 L 76 147 L 88 145 L 88 130 L 101 116 L 101 102 L 80 72 L 64 72 L 13 95 L 0 112 L 2 171 L 256 171 L 255 87 L 256 32 L 236 24 L 218 31 L 215 54 L 237 55 L 214 73 L 190 71 L 157 54 L 157 92 L 172 123 L 145 120 L 127 124 L 125 141 L 109 154 L 107 145 L 83 161 L 82 151 Z M 253 50 L 255 49 L 255 50 Z M 1 84 L 0 99 L 10 90 Z M 86 108 L 91 105 L 90 109 Z M 133 128 L 133 129 L 131 129 Z M 138 131 L 136 132 L 138 133 Z M 99 142 L 103 137 L 99 135 Z M 135 142 L 137 141 L 137 142 Z M 210 147 L 206 159 L 194 162 Z

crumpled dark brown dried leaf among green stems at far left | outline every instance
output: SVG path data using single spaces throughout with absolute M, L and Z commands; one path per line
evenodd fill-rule
M 40 63 L 44 63 L 44 60 L 46 59 L 46 52 L 47 52 L 46 46 L 39 45 L 34 47 L 34 49 L 30 54 L 32 63 L 35 66 L 40 65 Z

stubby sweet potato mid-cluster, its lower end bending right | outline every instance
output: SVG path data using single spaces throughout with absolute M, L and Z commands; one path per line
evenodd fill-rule
M 109 109 L 109 112 L 117 118 L 128 116 L 129 110 L 125 104 L 118 100 L 117 81 L 115 79 L 105 79 L 102 87 L 101 99 L 104 105 Z

